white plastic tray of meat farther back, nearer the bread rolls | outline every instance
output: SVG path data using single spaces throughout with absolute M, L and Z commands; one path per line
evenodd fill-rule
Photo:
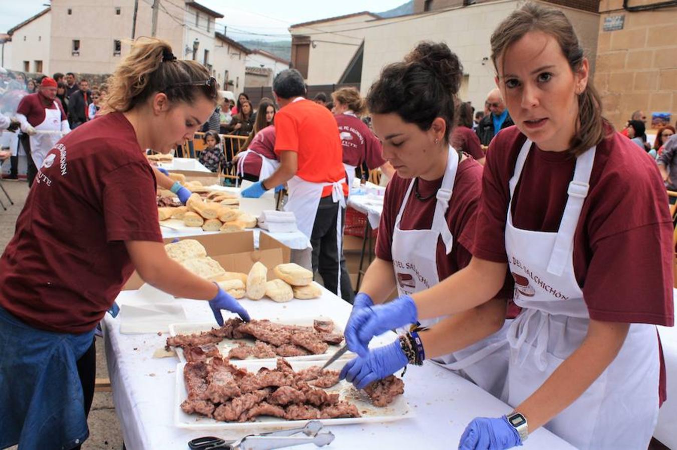
M 318 320 L 332 320 L 334 322 L 334 332 L 337 333 L 343 333 L 343 330 L 345 329 L 345 322 L 336 322 L 336 320 L 332 318 L 328 318 L 326 316 L 316 316 L 316 317 L 301 317 L 301 318 L 280 318 L 280 317 L 269 317 L 267 318 L 271 322 L 277 322 L 278 324 L 284 324 L 284 325 L 301 325 L 301 326 L 313 326 L 313 320 L 318 319 Z M 183 324 L 170 324 L 169 325 L 169 335 L 170 336 L 176 336 L 177 334 L 192 334 L 196 332 L 201 332 L 201 331 L 209 331 L 212 328 L 216 328 L 217 324 L 215 322 L 194 322 L 194 323 L 183 323 Z M 382 345 L 387 345 L 393 341 L 393 336 L 376 336 L 374 339 L 372 339 L 372 342 L 370 343 L 369 347 L 381 347 Z M 223 341 L 217 343 L 217 347 L 219 351 L 221 351 L 221 355 L 223 357 L 228 356 L 228 352 L 230 349 L 234 349 L 235 347 L 238 347 L 238 342 L 246 342 L 248 345 L 254 345 L 255 339 L 253 337 L 247 337 L 247 338 L 242 338 L 242 339 L 223 339 Z M 345 343 L 345 341 L 343 341 Z M 341 345 L 343 345 L 341 343 Z M 318 361 L 320 359 L 326 361 L 334 353 L 336 353 L 337 350 L 341 347 L 341 345 L 332 345 L 330 344 L 327 351 L 324 353 L 321 353 L 320 355 L 304 355 L 304 356 L 290 356 L 290 357 L 285 357 L 288 361 Z M 183 349 L 180 347 L 175 348 L 177 355 L 179 355 L 179 361 L 185 362 L 185 357 L 183 356 Z M 353 355 L 353 353 L 347 353 L 349 355 Z M 275 358 L 265 358 L 265 359 L 260 359 L 261 361 L 275 361 L 277 357 Z M 247 359 L 233 359 L 233 361 L 255 361 L 259 360 L 257 358 L 247 358 Z

